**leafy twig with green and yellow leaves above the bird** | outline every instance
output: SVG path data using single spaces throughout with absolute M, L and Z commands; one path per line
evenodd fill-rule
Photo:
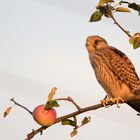
M 127 8 L 122 6 L 124 4 L 127 5 Z M 135 33 L 133 36 L 130 35 L 130 32 L 123 29 L 113 16 L 115 12 L 130 13 L 131 9 L 137 11 L 140 15 L 140 5 L 134 2 L 129 3 L 127 1 L 120 1 L 116 4 L 113 0 L 100 0 L 89 21 L 98 22 L 102 20 L 102 17 L 112 18 L 114 23 L 117 24 L 118 27 L 130 37 L 129 42 L 133 45 L 133 48 L 136 49 L 140 47 L 140 33 Z

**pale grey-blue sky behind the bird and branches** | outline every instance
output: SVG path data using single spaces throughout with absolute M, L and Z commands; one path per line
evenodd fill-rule
M 88 60 L 85 40 L 101 35 L 108 43 L 126 53 L 140 73 L 140 49 L 133 50 L 128 37 L 110 19 L 89 23 L 98 0 L 5 0 L 0 5 L 0 98 L 1 114 L 11 104 L 9 98 L 31 110 L 46 102 L 54 86 L 56 97 L 73 97 L 82 107 L 99 103 L 105 92 L 97 83 Z M 135 2 L 139 2 L 135 0 Z M 123 27 L 139 31 L 137 12 L 115 14 Z M 58 115 L 74 111 L 61 103 Z M 140 118 L 127 105 L 113 106 L 79 116 L 91 116 L 92 122 L 79 129 L 74 140 L 139 138 Z M 24 139 L 32 128 L 38 128 L 24 110 L 14 107 L 6 119 L 0 117 L 2 139 Z M 37 139 L 70 139 L 71 127 L 57 124 Z M 55 134 L 55 135 L 54 135 Z

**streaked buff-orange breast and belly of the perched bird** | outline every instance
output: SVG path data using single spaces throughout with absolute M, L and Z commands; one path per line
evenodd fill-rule
M 90 56 L 90 62 L 98 82 L 106 91 L 108 97 L 124 97 L 127 96 L 127 94 L 130 94 L 130 89 L 110 69 L 109 62 L 103 55 L 94 54 Z

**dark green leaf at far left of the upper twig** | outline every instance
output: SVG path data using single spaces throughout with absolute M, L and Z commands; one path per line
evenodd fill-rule
M 103 16 L 103 14 L 100 11 L 95 11 L 91 15 L 89 22 L 97 22 L 97 21 L 100 21 L 101 18 L 102 18 L 102 16 Z

